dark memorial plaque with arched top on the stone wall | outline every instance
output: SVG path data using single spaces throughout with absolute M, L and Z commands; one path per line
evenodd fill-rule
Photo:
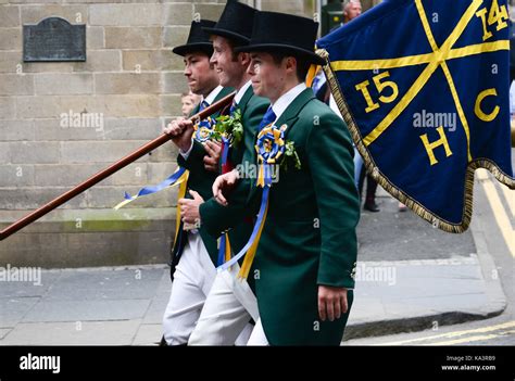
M 86 25 L 48 17 L 23 26 L 23 61 L 86 61 Z

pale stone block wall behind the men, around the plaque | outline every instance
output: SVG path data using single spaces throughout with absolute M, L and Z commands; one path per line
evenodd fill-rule
M 224 1 L 0 0 L 0 227 L 161 134 L 180 114 L 183 60 L 196 13 Z M 87 61 L 23 62 L 23 25 L 86 24 Z M 163 263 L 176 191 L 112 207 L 176 168 L 168 143 L 0 242 L 0 265 Z

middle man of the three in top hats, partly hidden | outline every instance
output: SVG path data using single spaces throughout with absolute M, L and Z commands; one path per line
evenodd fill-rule
M 221 85 L 237 90 L 230 117 L 233 120 L 239 118 L 242 127 L 239 132 L 233 129 L 227 134 L 224 149 L 228 149 L 228 152 L 223 155 L 227 160 L 222 166 L 224 173 L 231 167 L 240 167 L 243 152 L 253 150 L 256 128 L 269 105 L 268 100 L 256 97 L 252 90 L 250 75 L 247 73 L 250 55 L 235 52 L 236 48 L 249 43 L 255 13 L 254 9 L 229 0 L 216 26 L 205 28 L 213 41 L 211 63 L 218 73 Z M 234 253 L 243 247 L 252 232 L 252 214 L 241 212 L 227 236 L 222 237 L 228 238 Z M 200 219 L 200 225 L 203 226 L 204 221 L 227 218 L 229 211 L 211 199 L 203 203 L 200 200 L 188 201 L 183 213 L 186 221 Z M 230 271 L 217 274 L 190 336 L 190 345 L 233 345 L 249 321 L 259 319 L 253 278 L 249 282 L 237 281 L 238 270 L 239 266 L 236 264 Z

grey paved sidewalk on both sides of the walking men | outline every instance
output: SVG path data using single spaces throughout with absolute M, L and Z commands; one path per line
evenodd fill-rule
M 477 186 L 477 185 L 476 185 Z M 359 226 L 344 340 L 486 319 L 506 307 L 485 232 L 449 234 L 400 213 L 382 190 Z M 155 345 L 171 291 L 166 265 L 0 274 L 0 345 Z M 4 274 L 5 275 L 5 274 Z M 24 281 L 22 281 L 24 280 Z

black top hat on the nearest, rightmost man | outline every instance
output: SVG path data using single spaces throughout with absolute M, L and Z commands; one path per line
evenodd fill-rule
M 318 23 L 286 13 L 258 12 L 252 37 L 239 52 L 266 51 L 292 54 L 317 65 L 326 62 L 314 52 Z

